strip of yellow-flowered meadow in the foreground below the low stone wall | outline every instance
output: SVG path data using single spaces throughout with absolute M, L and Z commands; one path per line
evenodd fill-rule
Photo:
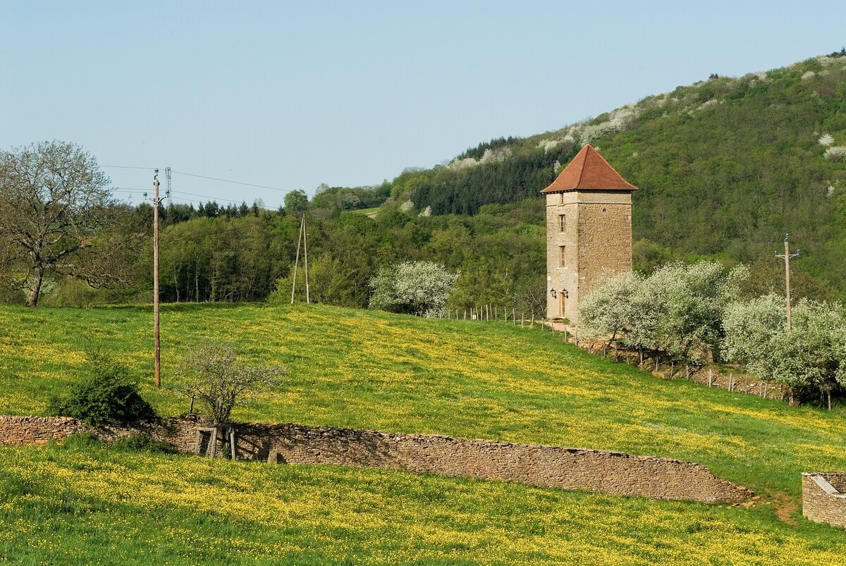
M 0 448 L 0 562 L 833 564 L 755 509 L 385 470 Z

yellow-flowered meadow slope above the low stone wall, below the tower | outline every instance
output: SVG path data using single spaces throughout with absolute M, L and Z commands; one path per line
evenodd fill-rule
M 150 387 L 146 309 L 0 309 L 0 414 L 41 414 L 85 371 L 95 340 L 142 378 L 162 415 L 187 410 L 166 388 L 196 338 L 234 340 L 288 367 L 288 387 L 238 420 L 299 422 L 603 448 L 684 459 L 755 491 L 799 496 L 802 471 L 846 469 L 840 413 L 683 381 L 586 354 L 504 322 L 437 321 L 311 305 L 166 305 L 165 388 Z

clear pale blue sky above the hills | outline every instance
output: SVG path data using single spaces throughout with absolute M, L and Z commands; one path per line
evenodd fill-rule
M 73 141 L 103 166 L 309 194 L 846 45 L 843 0 L 0 0 L 0 22 L 0 148 Z M 135 203 L 151 186 L 104 170 Z M 183 174 L 173 190 L 284 196 Z

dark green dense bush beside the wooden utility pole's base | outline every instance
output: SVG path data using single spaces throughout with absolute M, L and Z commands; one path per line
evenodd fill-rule
M 91 374 L 71 386 L 69 394 L 50 398 L 49 415 L 74 417 L 88 426 L 130 424 L 156 416 L 125 365 L 99 350 L 87 356 Z

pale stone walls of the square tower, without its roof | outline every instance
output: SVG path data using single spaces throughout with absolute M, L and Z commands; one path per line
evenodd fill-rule
M 566 226 L 560 230 L 560 216 Z M 565 246 L 565 266 L 560 265 Z M 572 190 L 547 195 L 547 316 L 579 320 L 578 305 L 607 278 L 632 267 L 631 193 Z

